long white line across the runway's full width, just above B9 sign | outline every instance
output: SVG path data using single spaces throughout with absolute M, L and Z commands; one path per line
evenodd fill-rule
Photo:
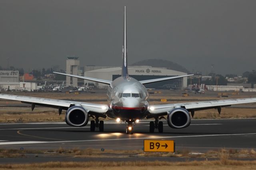
M 256 133 L 239 133 L 239 134 L 205 134 L 205 135 L 189 135 L 189 136 L 152 136 L 143 138 L 117 138 L 117 139 L 93 139 L 93 140 L 64 140 L 64 141 L 21 141 L 19 142 L 0 142 L 0 145 L 10 144 L 36 144 L 36 143 L 68 143 L 68 142 L 96 142 L 96 141 L 113 141 L 113 140 L 134 140 L 134 139 L 152 139 L 152 138 L 190 138 L 190 137 L 212 137 L 212 136 L 240 136 L 240 135 L 256 135 Z

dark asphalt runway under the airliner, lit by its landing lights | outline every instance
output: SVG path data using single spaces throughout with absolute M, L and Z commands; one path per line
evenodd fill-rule
M 142 149 L 144 139 L 175 140 L 176 150 L 204 152 L 216 148 L 256 149 L 256 119 L 192 120 L 189 127 L 173 129 L 164 122 L 164 132 L 149 132 L 149 121 L 140 121 L 134 134 L 125 134 L 126 125 L 105 121 L 105 132 L 66 123 L 2 123 L 0 148 L 56 149 L 105 148 Z

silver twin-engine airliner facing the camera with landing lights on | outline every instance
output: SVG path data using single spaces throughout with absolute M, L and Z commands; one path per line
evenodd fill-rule
M 54 72 L 56 74 L 107 84 L 108 105 L 7 94 L 0 94 L 0 99 L 16 100 L 21 101 L 22 103 L 28 103 L 31 105 L 32 111 L 36 105 L 56 108 L 58 109 L 59 114 L 62 113 L 62 110 L 66 110 L 65 121 L 68 125 L 74 127 L 86 126 L 90 117 L 93 119 L 90 121 L 90 131 L 95 131 L 95 128 L 99 128 L 99 131 L 103 132 L 104 121 L 99 121 L 99 118 L 110 117 L 112 119 L 116 119 L 116 121 L 124 121 L 126 123 L 126 134 L 133 134 L 134 125 L 138 123 L 139 120 L 144 118 L 155 119 L 155 121 L 150 121 L 149 123 L 149 131 L 151 133 L 153 133 L 155 129 L 158 129 L 158 132 L 162 133 L 163 122 L 159 120 L 165 119 L 164 116 L 167 116 L 166 121 L 169 127 L 186 128 L 190 125 L 191 117 L 194 117 L 195 111 L 217 109 L 218 113 L 220 113 L 222 107 L 256 102 L 256 98 L 247 98 L 150 105 L 148 91 L 144 86 L 145 84 L 187 77 L 191 75 L 181 75 L 143 81 L 137 81 L 129 76 L 127 68 L 128 56 L 126 37 L 126 7 L 124 7 L 123 38 L 122 76 L 114 79 L 113 81 Z

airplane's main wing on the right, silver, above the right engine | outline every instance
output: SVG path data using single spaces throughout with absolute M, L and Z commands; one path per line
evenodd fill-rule
M 150 105 L 148 111 L 153 115 L 167 115 L 172 109 L 182 107 L 189 112 L 201 111 L 206 109 L 218 109 L 219 113 L 221 107 L 228 107 L 231 105 L 244 104 L 244 103 L 256 103 L 256 98 L 246 99 L 228 99 L 228 100 L 216 100 L 216 101 L 201 101 L 191 103 L 174 103 L 164 105 Z

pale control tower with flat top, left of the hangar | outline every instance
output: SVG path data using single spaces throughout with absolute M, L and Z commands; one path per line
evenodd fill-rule
M 78 75 L 78 66 L 80 65 L 78 57 L 67 57 L 67 58 L 68 59 L 66 60 L 66 73 Z M 76 87 L 77 78 L 66 76 L 66 87 L 68 86 Z

